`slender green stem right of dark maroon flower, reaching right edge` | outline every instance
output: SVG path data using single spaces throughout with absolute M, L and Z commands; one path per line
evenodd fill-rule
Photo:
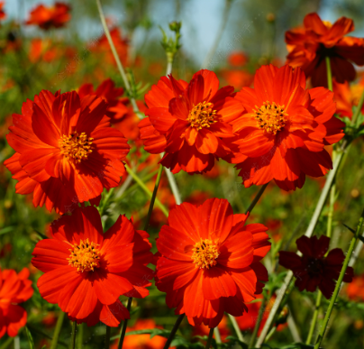
M 316 343 L 314 344 L 314 349 L 319 349 L 321 343 L 323 342 L 323 335 L 325 334 L 326 327 L 329 324 L 329 319 L 330 319 L 330 316 L 332 315 L 332 309 L 333 309 L 333 306 L 334 306 L 334 304 L 336 302 L 336 298 L 338 297 L 339 291 L 341 289 L 341 282 L 344 279 L 346 269 L 348 268 L 350 258 L 351 258 L 351 254 L 354 251 L 355 244 L 357 243 L 357 241 L 359 239 L 359 234 L 360 234 L 360 231 L 361 231 L 361 227 L 363 225 L 363 221 L 364 221 L 364 210 L 361 213 L 361 216 L 360 216 L 360 219 L 359 219 L 359 224 L 358 224 L 358 227 L 357 227 L 357 231 L 356 231 L 354 237 L 351 239 L 350 246 L 349 246 L 349 251 L 348 251 L 348 253 L 346 253 L 345 260 L 344 260 L 344 262 L 342 264 L 339 279 L 337 280 L 335 289 L 334 289 L 334 291 L 332 293 L 332 298 L 330 299 L 329 308 L 327 309 L 326 315 L 323 318 L 323 326 L 321 327 L 321 331 L 320 331 L 320 333 L 319 333 L 319 335 L 318 335 L 318 337 L 316 339 Z

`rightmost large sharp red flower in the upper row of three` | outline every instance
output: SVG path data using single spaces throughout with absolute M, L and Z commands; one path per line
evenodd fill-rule
M 231 142 L 245 187 L 275 179 L 279 188 L 302 188 L 305 175 L 321 177 L 332 169 L 323 147 L 339 142 L 344 124 L 333 116 L 333 94 L 323 87 L 305 89 L 301 69 L 272 65 L 257 70 L 254 88 L 235 96 L 245 112 L 233 121 Z

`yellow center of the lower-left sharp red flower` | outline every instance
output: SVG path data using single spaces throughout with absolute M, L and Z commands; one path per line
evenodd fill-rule
M 94 271 L 100 266 L 98 246 L 96 243 L 90 243 L 88 239 L 85 242 L 80 240 L 79 243 L 73 244 L 68 250 L 71 253 L 67 259 L 68 264 L 77 268 L 77 271 Z

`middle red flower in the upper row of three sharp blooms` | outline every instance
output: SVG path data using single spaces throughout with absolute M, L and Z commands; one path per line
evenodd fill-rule
M 145 96 L 148 117 L 139 124 L 144 149 L 166 152 L 160 163 L 173 173 L 211 170 L 215 159 L 231 152 L 224 139 L 233 136 L 230 123 L 243 111 L 233 90 L 219 89 L 218 78 L 206 69 L 189 84 L 171 75 L 160 78 Z

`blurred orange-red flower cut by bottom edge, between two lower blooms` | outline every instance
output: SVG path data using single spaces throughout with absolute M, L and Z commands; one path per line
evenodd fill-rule
M 163 328 L 157 326 L 153 319 L 138 319 L 137 323 L 132 327 L 126 328 L 126 333 L 131 331 L 139 331 L 143 329 L 153 330 L 155 328 Z M 123 340 L 124 349 L 160 349 L 166 344 L 167 338 L 160 335 L 155 335 L 150 338 L 150 335 L 126 335 Z M 117 349 L 119 341 L 111 346 L 111 349 Z M 175 347 L 171 347 L 175 348 Z

